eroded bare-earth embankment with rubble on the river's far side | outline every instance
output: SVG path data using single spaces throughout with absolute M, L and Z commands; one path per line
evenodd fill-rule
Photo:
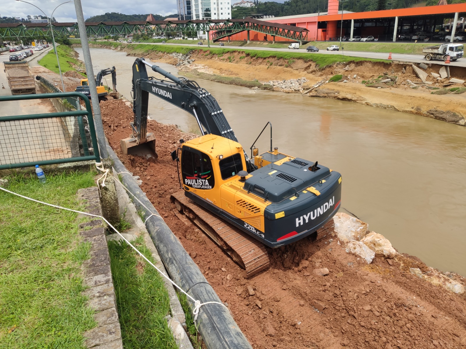
M 189 78 L 202 78 L 252 88 L 268 88 L 286 93 L 302 93 L 310 97 L 325 97 L 353 101 L 374 107 L 418 114 L 458 125 L 466 125 L 466 88 L 438 80 L 432 75 L 441 66 L 432 64 L 425 72 L 426 82 L 420 81 L 411 63 L 357 61 L 333 63 L 322 68 L 312 60 L 251 56 L 242 51 L 213 54 L 208 50 L 191 50 L 188 54 L 164 53 L 152 45 L 109 46 L 132 56 L 178 65 Z M 148 50 L 147 46 L 151 46 Z M 213 51 L 213 50 L 212 50 Z M 348 57 L 344 57 L 348 60 Z M 466 79 L 466 70 L 450 67 L 452 77 Z M 329 82 L 335 75 L 337 82 Z M 304 78 L 305 80 L 302 80 Z M 383 82 L 384 81 L 384 82 Z M 456 87 L 456 93 L 450 92 Z M 441 94 L 432 94 L 441 93 Z

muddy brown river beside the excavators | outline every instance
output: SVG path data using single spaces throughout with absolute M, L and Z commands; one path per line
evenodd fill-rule
M 76 51 L 82 60 L 82 49 Z M 91 48 L 91 55 L 95 73 L 117 68 L 117 90 L 131 100 L 135 58 L 100 48 Z M 171 65 L 158 65 L 178 74 Z M 219 101 L 244 148 L 271 121 L 274 147 L 342 174 L 340 211 L 368 222 L 399 252 L 466 275 L 464 126 L 352 102 L 197 81 Z M 198 128 L 190 114 L 155 96 L 149 115 L 185 131 Z M 268 135 L 258 142 L 260 151 L 268 150 Z

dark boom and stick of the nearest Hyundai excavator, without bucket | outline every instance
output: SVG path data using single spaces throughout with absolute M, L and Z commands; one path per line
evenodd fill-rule
M 149 77 L 146 66 L 166 80 Z M 144 58 L 137 58 L 133 64 L 134 121 L 131 128 L 139 143 L 144 143 L 144 135 L 147 134 L 149 94 L 192 114 L 198 122 L 201 134 L 216 134 L 238 141 L 217 100 L 197 82 L 180 79 L 155 64 L 146 62 Z M 246 152 L 245 157 L 248 171 L 254 170 Z

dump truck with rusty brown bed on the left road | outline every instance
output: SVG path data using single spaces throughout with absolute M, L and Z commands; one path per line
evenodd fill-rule
M 3 62 L 11 94 L 35 94 L 34 76 L 27 62 Z

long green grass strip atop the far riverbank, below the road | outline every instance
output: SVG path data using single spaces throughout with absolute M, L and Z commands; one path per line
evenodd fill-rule
M 104 41 L 104 42 L 99 42 L 99 45 L 102 46 L 107 46 L 107 47 L 112 47 L 116 48 L 123 43 L 121 42 L 110 42 L 110 41 Z M 306 62 L 308 61 L 313 61 L 315 64 L 320 67 L 324 68 L 327 67 L 331 64 L 337 63 L 337 62 L 358 62 L 358 61 L 370 61 L 370 62 L 384 62 L 384 63 L 390 63 L 389 60 L 378 60 L 378 59 L 372 59 L 372 58 L 362 58 L 362 57 L 351 57 L 351 56 L 343 56 L 339 54 L 309 54 L 309 53 L 300 53 L 300 52 L 279 52 L 279 51 L 260 51 L 260 50 L 237 50 L 233 48 L 225 48 L 225 47 L 188 47 L 188 46 L 174 46 L 174 45 L 147 45 L 147 44 L 128 44 L 127 45 L 132 52 L 136 54 L 147 54 L 151 52 L 164 52 L 166 54 L 171 54 L 171 53 L 180 53 L 180 54 L 187 54 L 190 51 L 202 51 L 202 52 L 210 52 L 210 54 L 217 54 L 219 57 L 221 57 L 224 54 L 231 54 L 234 52 L 241 52 L 246 54 L 249 57 L 252 58 L 270 58 L 270 57 L 275 57 L 277 59 L 283 59 L 283 60 L 297 60 L 301 59 Z

